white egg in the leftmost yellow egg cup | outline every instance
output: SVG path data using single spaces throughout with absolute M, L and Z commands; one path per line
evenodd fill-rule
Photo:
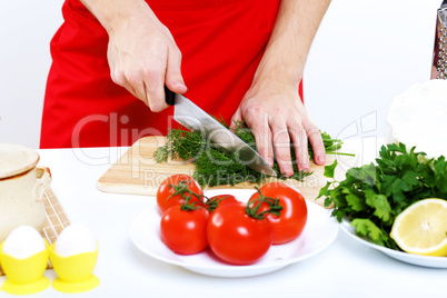
M 3 254 L 17 259 L 26 259 L 46 250 L 42 236 L 31 226 L 13 229 L 3 244 Z

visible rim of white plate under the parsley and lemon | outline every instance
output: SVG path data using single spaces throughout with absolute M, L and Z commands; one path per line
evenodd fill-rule
M 447 257 L 429 257 L 429 256 L 420 256 L 420 255 L 414 255 L 414 254 L 408 254 L 399 250 L 394 250 L 387 247 L 383 247 L 376 244 L 372 244 L 359 236 L 356 235 L 355 228 L 351 227 L 350 221 L 347 219 L 344 219 L 340 224 L 341 229 L 349 235 L 352 239 L 356 241 L 369 246 L 371 248 L 375 248 L 385 255 L 395 258 L 397 260 L 413 264 L 413 265 L 418 265 L 423 267 L 430 267 L 430 268 L 447 268 Z

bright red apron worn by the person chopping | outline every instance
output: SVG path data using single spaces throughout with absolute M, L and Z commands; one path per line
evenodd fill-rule
M 182 53 L 186 97 L 228 123 L 251 85 L 280 0 L 148 0 Z M 79 0 L 66 0 L 51 41 L 41 148 L 130 146 L 171 127 L 110 79 L 108 34 Z M 300 86 L 300 96 L 302 89 Z

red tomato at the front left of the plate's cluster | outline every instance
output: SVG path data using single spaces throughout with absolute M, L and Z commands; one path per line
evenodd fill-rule
M 205 208 L 182 210 L 180 205 L 170 207 L 161 217 L 160 237 L 173 252 L 193 255 L 208 247 Z

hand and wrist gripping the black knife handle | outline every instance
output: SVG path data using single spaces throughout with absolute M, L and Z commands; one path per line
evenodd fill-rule
M 177 93 L 187 87 L 181 52 L 172 34 L 145 1 L 82 0 L 109 34 L 108 60 L 113 82 L 155 111 L 167 108 L 165 85 Z

